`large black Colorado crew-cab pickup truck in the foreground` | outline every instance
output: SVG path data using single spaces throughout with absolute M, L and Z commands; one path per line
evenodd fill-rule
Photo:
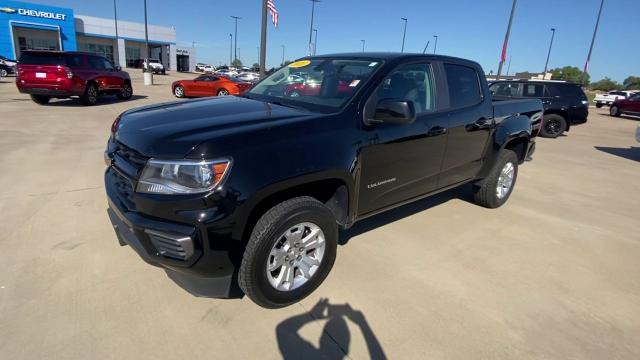
M 466 183 L 481 206 L 507 201 L 542 104 L 492 103 L 483 74 L 445 56 L 314 56 L 242 96 L 126 111 L 105 152 L 120 244 L 193 294 L 292 304 L 358 220 Z

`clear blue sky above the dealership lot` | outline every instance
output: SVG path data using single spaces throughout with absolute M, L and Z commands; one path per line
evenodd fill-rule
M 280 13 L 277 30 L 269 26 L 267 64 L 276 66 L 285 57 L 306 55 L 311 2 L 274 0 Z M 478 61 L 485 70 L 498 68 L 511 0 L 321 0 L 316 4 L 318 54 L 360 51 L 361 39 L 368 51 L 400 51 L 403 22 L 408 18 L 405 51 L 422 52 L 426 42 L 438 53 Z M 112 1 L 39 0 L 41 4 L 73 8 L 78 14 L 113 16 Z M 198 60 L 214 65 L 228 62 L 231 15 L 238 22 L 238 47 L 245 64 L 258 60 L 261 0 L 147 0 L 149 23 L 175 26 L 178 43 L 196 42 Z M 142 0 L 117 0 L 118 17 L 144 20 Z M 184 6 L 177 6 L 184 4 Z M 511 73 L 542 71 L 550 28 L 555 27 L 549 67 L 582 68 L 600 0 L 520 0 L 509 42 Z M 622 81 L 640 76 L 640 47 L 635 39 L 640 24 L 640 1 L 606 0 L 591 58 L 591 77 Z M 506 71 L 506 64 L 505 70 Z

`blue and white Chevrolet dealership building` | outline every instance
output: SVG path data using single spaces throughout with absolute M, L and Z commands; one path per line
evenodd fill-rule
M 117 65 L 135 67 L 143 59 L 144 24 L 77 15 L 73 9 L 0 0 L 0 55 L 17 59 L 24 50 L 84 51 Z M 166 69 L 195 71 L 193 47 L 176 45 L 175 27 L 148 25 L 150 58 Z

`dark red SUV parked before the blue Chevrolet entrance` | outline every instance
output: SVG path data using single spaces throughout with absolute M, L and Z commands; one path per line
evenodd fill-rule
M 85 105 L 94 105 L 102 94 L 123 100 L 133 95 L 129 74 L 94 54 L 24 51 L 16 74 L 18 90 L 40 105 L 51 98 L 78 96 Z

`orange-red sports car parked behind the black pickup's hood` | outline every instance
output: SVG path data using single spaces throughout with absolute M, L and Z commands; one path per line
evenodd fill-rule
M 226 96 L 240 95 L 249 90 L 253 84 L 218 75 L 201 75 L 193 80 L 178 80 L 171 84 L 171 91 L 176 97 Z

